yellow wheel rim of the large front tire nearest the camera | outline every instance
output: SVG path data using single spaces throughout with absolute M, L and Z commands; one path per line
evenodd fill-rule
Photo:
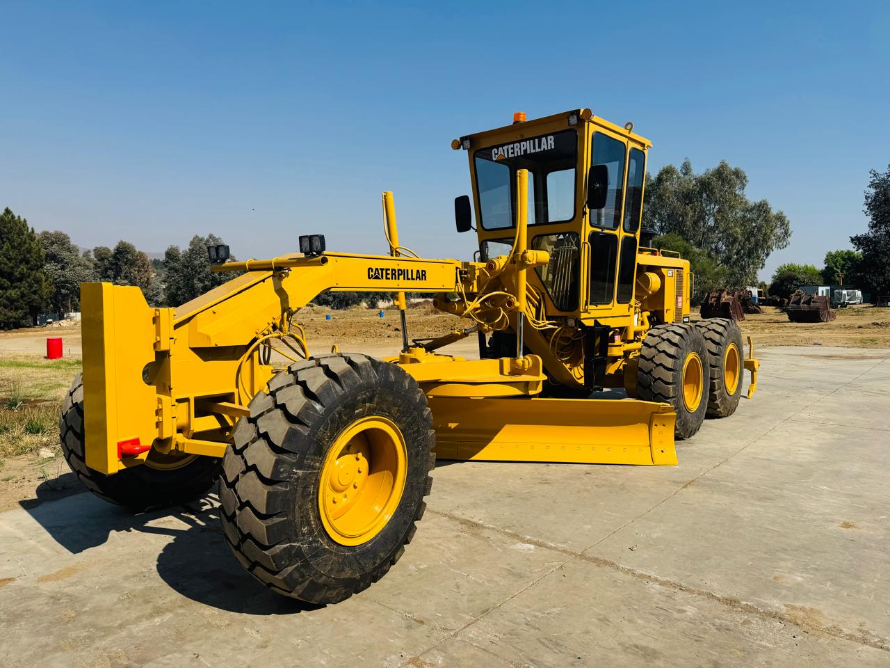
M 360 545 L 379 534 L 405 489 L 408 448 L 392 420 L 356 420 L 337 437 L 321 467 L 319 510 L 328 536 Z

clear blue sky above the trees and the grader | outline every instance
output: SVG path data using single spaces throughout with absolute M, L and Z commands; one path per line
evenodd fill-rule
M 460 134 L 590 107 L 650 170 L 743 167 L 821 266 L 890 163 L 890 4 L 0 2 L 0 206 L 80 246 L 468 259 Z

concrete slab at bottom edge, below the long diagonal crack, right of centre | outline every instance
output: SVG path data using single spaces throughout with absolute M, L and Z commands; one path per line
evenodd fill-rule
M 880 649 L 837 643 L 769 615 L 580 559 L 458 638 L 528 666 L 847 668 L 887 661 Z

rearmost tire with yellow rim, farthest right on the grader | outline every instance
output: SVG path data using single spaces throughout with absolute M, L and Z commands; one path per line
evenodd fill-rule
M 735 322 L 724 318 L 695 324 L 705 338 L 711 358 L 708 417 L 726 418 L 739 407 L 741 398 L 744 358 L 741 330 Z

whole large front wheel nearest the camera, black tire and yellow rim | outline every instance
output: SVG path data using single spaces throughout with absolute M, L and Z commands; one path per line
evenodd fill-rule
M 272 591 L 314 604 L 368 588 L 423 517 L 432 426 L 423 391 L 395 364 L 331 354 L 279 373 L 223 459 L 221 518 L 235 557 Z M 395 482 L 372 489 L 387 477 Z

